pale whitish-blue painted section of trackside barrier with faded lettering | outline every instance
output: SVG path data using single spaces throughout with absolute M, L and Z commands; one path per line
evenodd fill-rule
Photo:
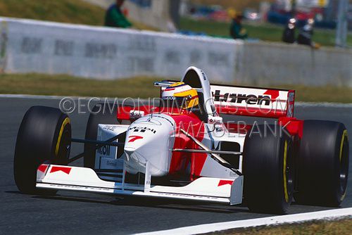
M 0 18 L 4 72 L 99 79 L 181 77 L 189 65 L 231 81 L 237 50 L 228 39 Z

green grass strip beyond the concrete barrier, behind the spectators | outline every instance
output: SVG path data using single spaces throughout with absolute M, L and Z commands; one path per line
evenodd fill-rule
M 249 24 L 244 23 L 249 37 L 260 39 L 263 41 L 280 42 L 284 27 L 282 25 L 264 24 Z M 208 20 L 192 20 L 182 18 L 180 21 L 180 30 L 191 30 L 194 32 L 205 32 L 212 36 L 229 37 L 230 23 L 220 23 Z M 323 46 L 334 46 L 335 32 L 334 30 L 315 30 L 313 35 L 314 42 Z M 348 34 L 349 45 L 352 44 L 352 35 Z

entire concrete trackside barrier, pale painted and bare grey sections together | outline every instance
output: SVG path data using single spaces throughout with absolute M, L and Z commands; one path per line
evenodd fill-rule
M 352 87 L 350 49 L 0 18 L 1 72 L 175 79 L 190 65 L 225 83 Z

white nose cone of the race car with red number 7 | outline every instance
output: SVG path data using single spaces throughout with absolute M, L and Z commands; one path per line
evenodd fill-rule
M 127 130 L 124 148 L 127 171 L 144 173 L 148 162 L 152 176 L 168 174 L 174 141 L 172 131 L 170 121 L 158 116 L 146 116 L 133 122 Z

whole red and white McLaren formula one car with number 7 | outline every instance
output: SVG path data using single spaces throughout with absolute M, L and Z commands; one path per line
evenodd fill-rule
M 85 139 L 71 138 L 61 110 L 30 108 L 15 147 L 18 189 L 244 203 L 275 213 L 287 212 L 293 198 L 331 206 L 344 200 L 346 127 L 294 118 L 295 91 L 210 85 L 194 67 L 181 82 L 154 85 L 161 87 L 157 106 L 96 105 Z M 224 122 L 228 115 L 274 124 Z M 70 158 L 73 142 L 84 153 Z M 80 158 L 84 167 L 68 166 Z

